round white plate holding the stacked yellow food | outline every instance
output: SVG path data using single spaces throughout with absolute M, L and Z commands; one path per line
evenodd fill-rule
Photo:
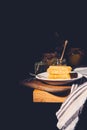
M 72 72 L 72 73 L 76 73 L 76 72 Z M 42 80 L 45 83 L 51 84 L 51 85 L 62 85 L 62 84 L 67 84 L 73 81 L 76 81 L 80 78 L 82 78 L 82 74 L 77 72 L 77 77 L 76 78 L 72 78 L 72 79 L 49 79 L 48 78 L 48 73 L 47 72 L 43 72 L 43 73 L 39 73 L 36 75 L 36 78 L 39 80 Z

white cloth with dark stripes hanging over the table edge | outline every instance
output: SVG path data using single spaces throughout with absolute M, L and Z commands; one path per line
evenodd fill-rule
M 70 95 L 56 112 L 57 128 L 60 130 L 74 130 L 85 101 L 87 100 L 87 82 L 72 85 Z

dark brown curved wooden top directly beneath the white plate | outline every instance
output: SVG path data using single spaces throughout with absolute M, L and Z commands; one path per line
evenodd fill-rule
M 58 85 L 58 86 L 49 85 L 37 79 L 34 79 L 32 81 L 25 81 L 22 84 L 30 88 L 43 90 L 47 92 L 62 92 L 62 91 L 70 90 L 71 88 L 71 86 L 68 85 Z

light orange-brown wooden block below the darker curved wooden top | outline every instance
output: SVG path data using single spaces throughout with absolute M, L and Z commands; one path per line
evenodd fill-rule
M 33 91 L 33 102 L 38 103 L 62 103 L 65 101 L 67 96 L 55 96 L 49 92 L 37 90 Z

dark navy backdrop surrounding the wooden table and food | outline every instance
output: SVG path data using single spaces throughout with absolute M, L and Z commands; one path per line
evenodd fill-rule
M 33 90 L 19 82 L 29 76 L 44 52 L 55 49 L 54 32 L 58 32 L 60 39 L 67 39 L 69 46 L 86 50 L 86 12 L 83 1 L 4 3 L 3 61 L 11 84 L 8 99 L 11 102 L 7 101 L 5 109 L 9 129 L 57 129 L 55 112 L 60 104 L 32 103 Z

